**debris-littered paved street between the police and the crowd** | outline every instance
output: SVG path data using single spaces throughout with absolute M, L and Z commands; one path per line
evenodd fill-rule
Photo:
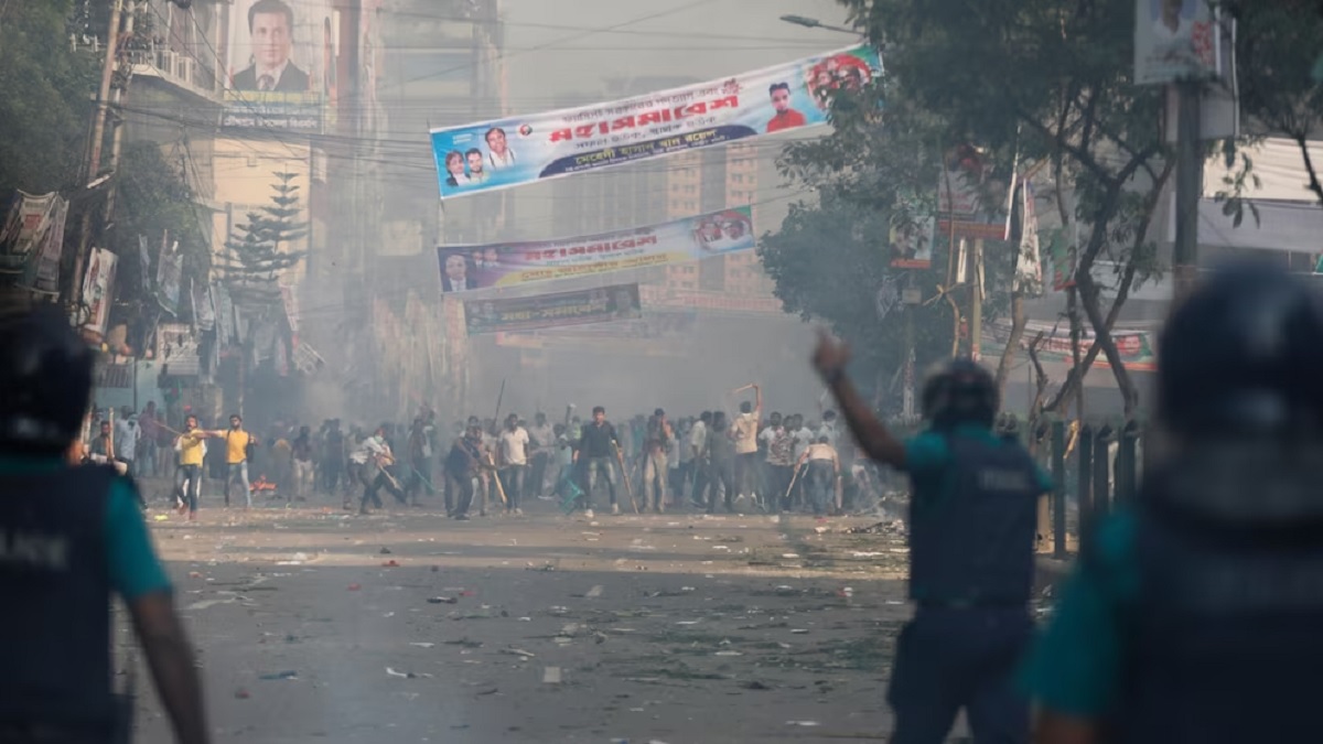
M 881 740 L 905 548 L 843 532 L 876 519 L 529 511 L 153 510 L 217 740 Z

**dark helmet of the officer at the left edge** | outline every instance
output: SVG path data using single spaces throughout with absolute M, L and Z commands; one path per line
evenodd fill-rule
M 64 451 L 91 401 L 95 352 L 56 307 L 0 320 L 0 449 Z

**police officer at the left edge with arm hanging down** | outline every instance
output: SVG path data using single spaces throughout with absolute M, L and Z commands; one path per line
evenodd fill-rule
M 78 466 L 93 352 L 54 307 L 0 318 L 0 741 L 127 740 L 111 686 L 123 597 L 179 741 L 208 741 L 193 653 L 134 482 Z

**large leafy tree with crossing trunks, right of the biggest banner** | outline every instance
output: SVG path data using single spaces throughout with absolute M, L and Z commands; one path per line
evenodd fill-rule
M 894 89 L 937 119 L 945 142 L 979 144 L 994 164 L 1043 164 L 1061 221 L 1082 226 L 1074 283 L 1098 339 L 1049 408 L 1072 397 L 1103 353 L 1132 410 L 1139 396 L 1110 331 L 1134 281 L 1160 269 L 1147 225 L 1171 160 L 1158 126 L 1162 90 L 1132 82 L 1134 0 L 841 3 L 884 45 Z M 1093 270 L 1109 254 L 1122 270 L 1105 310 Z M 1078 338 L 1077 316 L 1072 327 Z

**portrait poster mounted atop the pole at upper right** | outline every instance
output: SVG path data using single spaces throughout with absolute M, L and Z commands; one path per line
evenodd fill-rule
M 1135 0 L 1135 82 L 1166 85 L 1222 71 L 1208 0 Z

